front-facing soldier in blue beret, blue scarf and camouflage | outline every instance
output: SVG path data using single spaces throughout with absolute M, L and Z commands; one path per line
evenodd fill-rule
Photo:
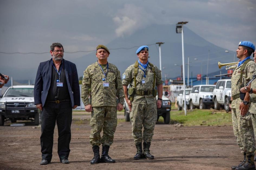
M 148 62 L 148 46 L 141 46 L 136 51 L 138 61 L 130 65 L 124 72 L 122 84 L 125 100 L 131 111 L 132 137 L 137 148 L 134 159 L 154 159 L 150 154 L 151 140 L 157 121 L 157 108 L 161 108 L 163 95 L 163 81 L 161 71 Z M 130 88 L 127 93 L 127 86 Z M 158 99 L 156 100 L 157 86 Z M 142 126 L 144 128 L 142 135 Z M 142 140 L 143 154 L 142 154 Z

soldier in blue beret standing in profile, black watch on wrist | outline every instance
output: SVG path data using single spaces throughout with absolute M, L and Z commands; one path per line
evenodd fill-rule
M 252 125 L 252 114 L 248 111 L 250 106 L 249 93 L 245 94 L 244 100 L 240 99 L 240 89 L 252 79 L 256 64 L 250 59 L 255 46 L 249 41 L 241 41 L 236 56 L 240 62 L 235 68 L 231 77 L 231 111 L 233 130 L 236 141 L 244 151 L 244 160 L 238 166 L 232 166 L 232 169 L 254 169 L 254 151 L 255 140 Z

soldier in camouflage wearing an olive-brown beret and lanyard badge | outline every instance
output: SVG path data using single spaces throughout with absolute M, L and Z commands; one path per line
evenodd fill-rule
M 96 51 L 98 61 L 89 65 L 84 71 L 82 81 L 82 100 L 87 112 L 92 112 L 90 126 L 90 144 L 94 152 L 91 164 L 101 162 L 115 163 L 108 155 L 113 143 L 117 125 L 116 110 L 121 111 L 124 104 L 124 91 L 120 71 L 114 64 L 108 63 L 109 50 L 99 45 Z M 91 91 L 89 102 L 89 89 Z M 117 100 L 119 103 L 117 104 Z M 103 136 L 101 138 L 101 131 Z M 99 146 L 102 144 L 102 155 Z

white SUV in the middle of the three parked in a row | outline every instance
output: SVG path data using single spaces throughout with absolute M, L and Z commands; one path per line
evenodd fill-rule
M 189 94 L 189 107 L 195 109 L 199 106 L 199 109 L 205 109 L 206 106 L 212 106 L 212 92 L 215 85 L 195 85 Z

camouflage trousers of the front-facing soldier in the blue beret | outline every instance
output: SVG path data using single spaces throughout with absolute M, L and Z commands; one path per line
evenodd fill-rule
M 154 135 L 155 123 L 157 122 L 157 105 L 132 103 L 130 113 L 132 123 L 132 137 L 134 143 L 151 142 Z M 143 137 L 142 137 L 143 126 Z

